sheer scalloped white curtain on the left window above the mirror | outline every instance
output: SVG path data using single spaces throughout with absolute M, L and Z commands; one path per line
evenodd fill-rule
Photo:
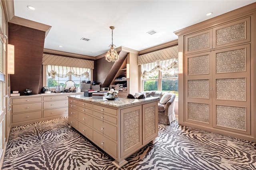
M 75 77 L 88 77 L 90 75 L 90 68 L 47 65 L 47 73 L 48 76 L 52 78 L 55 78 L 55 76 L 63 78 L 70 75 Z

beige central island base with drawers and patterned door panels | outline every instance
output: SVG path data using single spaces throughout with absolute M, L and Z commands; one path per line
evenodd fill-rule
M 158 137 L 157 99 L 129 105 L 133 99 L 119 98 L 119 106 L 101 101 L 70 96 L 68 123 L 112 156 L 112 163 L 120 168 L 127 157 Z

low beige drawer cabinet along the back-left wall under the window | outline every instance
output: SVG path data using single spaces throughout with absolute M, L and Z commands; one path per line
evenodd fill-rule
M 68 116 L 68 96 L 70 93 L 11 97 L 12 127 Z

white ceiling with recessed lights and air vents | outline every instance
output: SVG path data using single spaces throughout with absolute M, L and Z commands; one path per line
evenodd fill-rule
M 44 48 L 98 56 L 111 44 L 137 51 L 178 39 L 184 27 L 256 0 L 14 0 L 14 15 L 52 26 Z M 28 5 L 36 10 L 30 10 Z M 206 13 L 213 12 L 211 16 Z M 154 29 L 156 34 L 147 32 Z M 80 40 L 82 37 L 90 41 Z M 59 45 L 63 47 L 60 48 Z

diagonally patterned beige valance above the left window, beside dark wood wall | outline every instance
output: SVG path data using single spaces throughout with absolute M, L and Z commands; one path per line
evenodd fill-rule
M 42 64 L 94 69 L 94 61 L 49 54 L 43 54 Z

